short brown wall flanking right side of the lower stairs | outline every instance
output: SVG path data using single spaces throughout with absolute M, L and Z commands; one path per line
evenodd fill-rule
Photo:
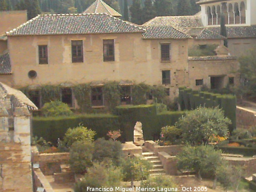
M 168 175 L 177 175 L 177 158 L 170 156 L 166 152 L 158 152 L 158 156 L 164 167 L 164 171 Z

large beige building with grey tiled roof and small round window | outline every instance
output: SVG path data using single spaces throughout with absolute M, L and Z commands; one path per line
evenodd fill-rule
M 97 0 L 87 11 L 100 12 L 100 7 L 104 4 Z M 75 108 L 78 106 L 72 84 L 91 83 L 91 102 L 97 108 L 105 105 L 106 81 L 120 82 L 130 98 L 120 104 L 132 104 L 133 82 L 163 85 L 171 99 L 178 96 L 180 86 L 199 89 L 206 84 L 217 89 L 229 82 L 238 84 L 235 72 L 239 64 L 235 57 L 188 58 L 193 36 L 198 44 L 206 40 L 222 44 L 225 38 L 206 28 L 193 29 L 202 21 L 192 21 L 187 17 L 178 28 L 139 26 L 120 20 L 115 12 L 38 15 L 6 33 L 9 51 L 0 59 L 6 69 L 3 75 L 12 74 L 9 84 L 15 88 L 28 86 L 38 107 L 43 103 L 36 86 L 44 84 L 62 85 L 60 100 L 67 96 L 65 102 Z M 183 28 L 182 23 L 191 28 Z

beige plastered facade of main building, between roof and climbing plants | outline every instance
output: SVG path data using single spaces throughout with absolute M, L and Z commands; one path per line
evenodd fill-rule
M 103 39 L 115 39 L 115 61 L 103 62 Z M 71 40 L 83 40 L 84 62 L 72 63 Z M 162 70 L 171 70 L 172 95 L 188 85 L 188 40 L 143 40 L 140 33 L 56 36 L 9 36 L 14 86 L 132 80 L 162 84 Z M 171 62 L 161 62 L 160 43 L 171 43 Z M 48 63 L 38 64 L 38 45 L 48 45 Z M 26 47 L 26 49 L 20 49 Z M 29 57 L 28 57 L 29 55 Z M 37 77 L 30 79 L 28 72 Z

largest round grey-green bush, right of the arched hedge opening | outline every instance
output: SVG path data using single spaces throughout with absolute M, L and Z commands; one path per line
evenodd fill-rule
M 213 135 L 226 137 L 230 123 L 231 121 L 224 117 L 219 108 L 199 107 L 186 112 L 186 115 L 182 116 L 175 126 L 182 130 L 183 140 L 192 145 L 200 145 L 212 142 Z

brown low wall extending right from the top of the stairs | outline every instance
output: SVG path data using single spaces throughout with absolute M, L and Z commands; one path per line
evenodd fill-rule
M 150 151 L 155 152 L 156 154 L 158 152 L 165 152 L 170 156 L 175 156 L 180 152 L 183 145 L 160 146 L 156 142 L 152 140 L 148 140 L 148 141 L 145 141 L 145 147 L 148 148 Z

